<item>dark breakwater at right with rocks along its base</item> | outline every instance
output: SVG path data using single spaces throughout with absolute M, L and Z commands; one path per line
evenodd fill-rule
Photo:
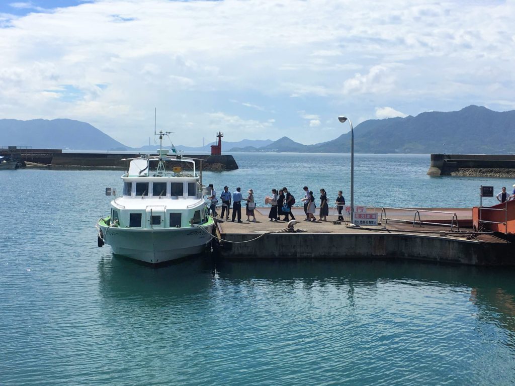
M 515 178 L 515 155 L 431 154 L 430 176 Z

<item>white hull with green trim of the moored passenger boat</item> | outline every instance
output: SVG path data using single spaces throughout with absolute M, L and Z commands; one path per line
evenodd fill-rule
M 213 222 L 176 229 L 130 229 L 98 224 L 115 255 L 160 264 L 202 253 L 211 241 Z

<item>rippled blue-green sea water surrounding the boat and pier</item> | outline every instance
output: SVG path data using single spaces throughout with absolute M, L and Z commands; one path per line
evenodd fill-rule
M 348 156 L 237 154 L 204 183 L 341 188 Z M 356 202 L 470 206 L 497 179 L 429 178 L 426 156 L 356 156 Z M 153 269 L 96 247 L 120 172 L 0 172 L 2 385 L 507 385 L 513 270 L 384 261 Z

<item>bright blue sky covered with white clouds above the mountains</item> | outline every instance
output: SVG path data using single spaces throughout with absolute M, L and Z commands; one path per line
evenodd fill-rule
M 515 109 L 515 1 L 0 2 L 0 118 L 129 146 L 329 141 L 366 119 Z

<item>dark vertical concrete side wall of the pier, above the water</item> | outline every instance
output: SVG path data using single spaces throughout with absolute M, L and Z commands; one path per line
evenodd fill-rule
M 255 234 L 224 234 L 228 241 L 247 241 Z M 228 258 L 410 259 L 479 266 L 515 266 L 513 244 L 453 237 L 403 234 L 267 234 L 255 241 L 226 242 Z

